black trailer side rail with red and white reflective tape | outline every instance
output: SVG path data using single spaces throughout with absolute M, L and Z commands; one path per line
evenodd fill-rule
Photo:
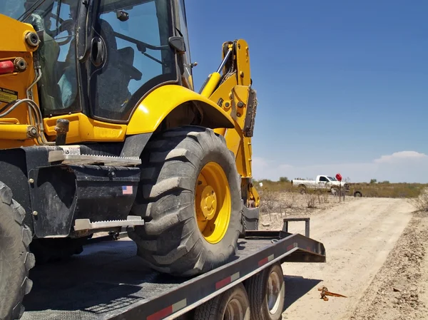
M 247 231 L 245 235 L 245 239 L 271 239 L 272 244 L 248 257 L 190 279 L 167 294 L 137 302 L 120 314 L 107 314 L 103 319 L 174 319 L 276 262 L 325 262 L 324 245 L 302 234 Z M 245 239 L 238 245 L 245 246 Z

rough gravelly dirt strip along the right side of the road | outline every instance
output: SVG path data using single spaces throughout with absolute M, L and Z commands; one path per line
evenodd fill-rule
M 428 215 L 412 217 L 352 320 L 428 319 Z

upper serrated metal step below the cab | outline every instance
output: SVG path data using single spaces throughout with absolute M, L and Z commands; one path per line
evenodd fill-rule
M 111 155 L 81 155 L 79 153 L 67 153 L 66 150 L 49 152 L 49 162 L 61 162 L 64 165 L 110 165 L 116 167 L 127 167 L 141 165 L 138 157 L 114 157 Z

